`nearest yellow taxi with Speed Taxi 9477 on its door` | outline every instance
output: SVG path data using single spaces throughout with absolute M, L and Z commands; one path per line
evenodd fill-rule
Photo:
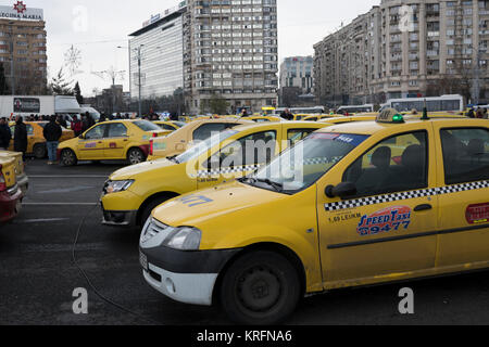
M 304 294 L 486 269 L 488 245 L 489 123 L 388 112 L 159 206 L 140 262 L 174 300 L 275 324 Z

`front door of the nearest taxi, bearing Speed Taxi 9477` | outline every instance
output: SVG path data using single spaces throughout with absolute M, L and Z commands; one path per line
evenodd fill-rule
M 366 153 L 321 181 L 323 274 L 330 287 L 394 281 L 435 267 L 438 203 L 430 195 L 436 162 L 428 127 L 365 144 Z M 355 142 L 355 136 L 341 138 Z M 353 183 L 356 194 L 327 196 L 338 183 Z

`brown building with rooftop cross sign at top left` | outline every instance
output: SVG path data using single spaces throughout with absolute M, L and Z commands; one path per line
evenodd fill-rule
M 5 82 L 17 95 L 45 94 L 48 57 L 43 11 L 22 1 L 0 7 L 0 64 Z

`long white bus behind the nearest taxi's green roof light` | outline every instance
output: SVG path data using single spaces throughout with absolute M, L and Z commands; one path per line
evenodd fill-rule
M 396 108 L 399 112 L 411 112 L 413 110 L 422 112 L 425 104 L 428 112 L 464 112 L 464 98 L 462 95 L 391 99 L 387 104 L 383 105 L 380 111 L 385 108 Z

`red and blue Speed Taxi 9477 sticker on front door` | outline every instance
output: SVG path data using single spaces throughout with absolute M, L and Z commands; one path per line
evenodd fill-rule
M 406 230 L 411 224 L 411 208 L 408 206 L 388 207 L 360 219 L 356 232 L 361 236 L 377 235 L 390 231 Z

